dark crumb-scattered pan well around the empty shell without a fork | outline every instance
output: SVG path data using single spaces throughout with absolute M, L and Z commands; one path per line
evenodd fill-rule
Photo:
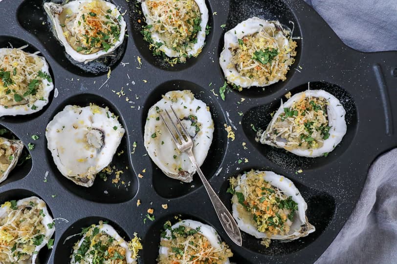
M 126 129 L 123 117 L 117 108 L 115 108 L 112 103 L 106 99 L 93 94 L 81 94 L 66 99 L 57 107 L 54 114 L 48 121 L 51 121 L 57 113 L 65 108 L 66 105 L 85 107 L 90 105 L 90 103 L 103 108 L 109 107 L 110 112 L 119 117 L 118 121 L 121 123 L 123 128 Z M 135 196 L 138 189 L 138 181 L 132 170 L 130 155 L 128 155 L 130 152 L 127 133 L 128 131 L 122 137 L 121 143 L 110 162 L 110 170 L 107 169 L 106 172 L 100 172 L 97 174 L 94 184 L 91 187 L 87 188 L 79 186 L 64 177 L 55 165 L 49 150 L 46 151 L 47 162 L 50 164 L 52 173 L 55 175 L 56 179 L 70 192 L 86 200 L 98 203 L 127 202 Z

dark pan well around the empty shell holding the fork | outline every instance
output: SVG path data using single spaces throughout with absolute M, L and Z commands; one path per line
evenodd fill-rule
M 226 123 L 225 116 L 222 114 L 221 106 L 219 103 L 212 99 L 211 92 L 203 89 L 198 84 L 189 81 L 167 81 L 160 84 L 154 89 L 154 91 L 148 96 L 147 101 L 144 104 L 144 109 L 152 107 L 158 102 L 162 95 L 173 90 L 190 90 L 194 96 L 203 101 L 210 108 L 211 116 L 214 121 L 214 134 L 212 144 L 207 154 L 201 170 L 207 179 L 213 177 L 219 169 L 221 162 L 223 161 L 224 153 L 226 151 L 227 144 L 227 132 L 224 130 L 223 124 Z M 142 133 L 148 116 L 147 111 L 142 112 Z M 150 159 L 146 157 L 145 159 Z M 193 182 L 181 183 L 178 180 L 167 177 L 153 161 L 149 161 L 152 164 L 153 174 L 153 187 L 158 195 L 164 198 L 176 198 L 188 194 L 202 185 L 198 175 L 193 175 Z

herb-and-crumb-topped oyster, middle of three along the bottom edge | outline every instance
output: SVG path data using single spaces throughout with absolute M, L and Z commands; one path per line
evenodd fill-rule
M 136 264 L 142 244 L 138 237 L 126 242 L 114 228 L 99 222 L 83 228 L 83 237 L 73 247 L 70 264 Z

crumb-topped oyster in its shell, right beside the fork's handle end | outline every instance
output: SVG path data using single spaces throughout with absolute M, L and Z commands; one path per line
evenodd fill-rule
M 307 203 L 284 176 L 251 170 L 231 178 L 228 192 L 239 228 L 256 238 L 290 241 L 315 231 L 306 217 Z

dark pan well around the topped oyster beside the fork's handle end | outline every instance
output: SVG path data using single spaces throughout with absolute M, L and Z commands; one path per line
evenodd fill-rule
M 246 170 L 249 170 L 249 168 L 247 168 Z M 274 168 L 261 168 L 260 170 L 274 171 Z M 243 171 L 240 171 L 240 174 L 243 173 Z M 282 174 L 277 171 L 275 171 L 275 173 Z M 233 176 L 237 175 L 238 173 Z M 289 242 L 272 240 L 270 246 L 267 248 L 261 244 L 261 239 L 257 239 L 252 235 L 241 232 L 243 237 L 243 247 L 245 249 L 269 256 L 293 253 L 302 250 L 303 248 L 317 240 L 317 238 L 320 237 L 321 234 L 325 231 L 329 223 L 331 223 L 334 212 L 336 210 L 334 198 L 326 192 L 310 188 L 306 185 L 294 181 L 293 177 L 291 176 L 286 175 L 286 177 L 292 179 L 292 182 L 298 188 L 299 192 L 307 203 L 308 209 L 306 210 L 306 216 L 308 217 L 309 223 L 315 226 L 315 232 L 309 234 L 306 237 L 301 237 L 299 239 Z M 221 185 L 219 197 L 229 209 L 229 211 L 232 211 L 232 195 L 226 192 L 228 187 L 229 181 L 228 179 L 225 179 L 224 183 Z

